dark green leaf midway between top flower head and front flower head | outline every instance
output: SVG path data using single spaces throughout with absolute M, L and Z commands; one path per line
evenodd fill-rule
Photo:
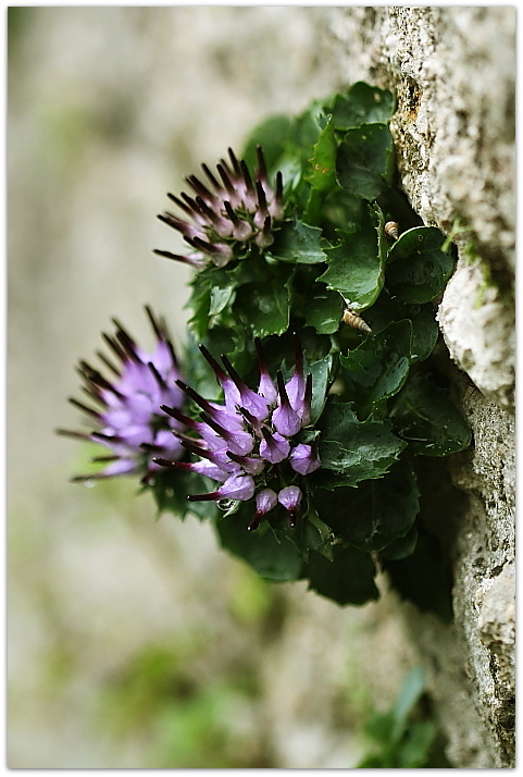
M 272 273 L 266 282 L 247 283 L 236 296 L 234 312 L 254 337 L 283 334 L 289 325 L 289 279 Z

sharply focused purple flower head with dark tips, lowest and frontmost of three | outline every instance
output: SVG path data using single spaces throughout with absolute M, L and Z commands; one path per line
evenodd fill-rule
M 179 437 L 198 460 L 155 458 L 162 466 L 198 472 L 221 483 L 211 493 L 189 496 L 192 502 L 253 498 L 256 516 L 249 530 L 256 529 L 277 504 L 286 508 L 294 526 L 303 498 L 297 483 L 321 466 L 314 444 L 297 439 L 310 423 L 312 398 L 312 374 L 303 375 L 298 340 L 294 372 L 284 382 L 278 371 L 276 383 L 267 371 L 260 341 L 254 342 L 260 368 L 257 392 L 241 380 L 226 356 L 222 356 L 222 368 L 200 345 L 223 388 L 224 402 L 208 402 L 178 380 L 177 385 L 201 409 L 200 420 L 185 416 L 177 407 L 163 405 L 162 410 L 192 432 Z

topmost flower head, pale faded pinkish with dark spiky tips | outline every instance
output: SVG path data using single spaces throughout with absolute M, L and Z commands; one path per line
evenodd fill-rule
M 167 195 L 183 211 L 183 219 L 170 211 L 158 217 L 182 233 L 192 252 L 180 256 L 155 249 L 155 254 L 201 269 L 210 262 L 217 267 L 227 264 L 238 244 L 241 248 L 241 244 L 252 242 L 263 250 L 273 243 L 274 224 L 284 217 L 282 173 L 277 173 L 273 188 L 260 146 L 253 178 L 245 161 L 238 161 L 231 148 L 228 156 L 229 162 L 222 159 L 216 165 L 219 178 L 206 164 L 201 166 L 209 183 L 202 183 L 196 175 L 186 178 L 194 196 Z

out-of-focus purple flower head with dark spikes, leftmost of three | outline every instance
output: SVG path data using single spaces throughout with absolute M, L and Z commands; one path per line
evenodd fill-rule
M 96 429 L 89 432 L 59 429 L 58 432 L 100 443 L 110 453 L 92 459 L 103 464 L 102 469 L 77 476 L 74 481 L 140 474 L 141 482 L 148 483 L 160 469 L 153 460 L 155 456 L 175 461 L 185 453 L 174 434 L 183 431 L 183 424 L 160 410 L 163 404 L 179 408 L 185 398 L 176 385 L 180 378 L 176 355 L 165 321 L 155 318 L 149 307 L 146 311 L 157 341 L 152 354 L 142 350 L 122 324 L 113 320 L 115 334 L 103 334 L 103 338 L 114 361 L 98 353 L 110 377 L 87 361 L 78 365 L 83 390 L 95 402 L 95 407 L 74 398 L 70 402 L 89 417 Z

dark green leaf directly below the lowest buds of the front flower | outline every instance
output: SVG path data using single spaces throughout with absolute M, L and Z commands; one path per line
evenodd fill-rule
M 247 531 L 253 509 L 253 503 L 242 503 L 234 515 L 219 518 L 216 530 L 222 546 L 247 562 L 265 580 L 298 580 L 302 570 L 299 550 L 286 538 L 278 541 L 266 521 L 256 531 Z

